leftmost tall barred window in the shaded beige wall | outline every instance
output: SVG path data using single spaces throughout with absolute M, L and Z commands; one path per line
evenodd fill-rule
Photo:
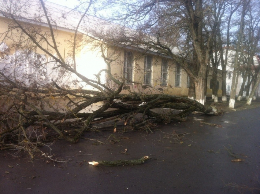
M 133 53 L 124 52 L 124 79 L 126 84 L 132 83 Z

